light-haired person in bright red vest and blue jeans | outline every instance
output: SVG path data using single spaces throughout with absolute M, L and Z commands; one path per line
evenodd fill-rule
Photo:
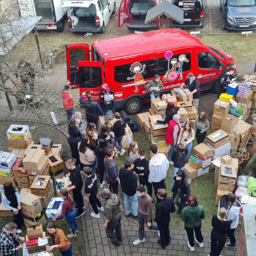
M 165 142 L 172 146 L 171 153 L 168 158 L 170 165 L 173 165 L 171 154 L 177 145 L 177 141 L 178 141 L 178 138 L 179 138 L 180 132 L 181 132 L 180 119 L 181 119 L 180 115 L 176 114 L 173 116 L 172 120 L 170 120 L 170 122 L 168 124 L 167 132 L 166 132 L 166 136 L 165 136 Z

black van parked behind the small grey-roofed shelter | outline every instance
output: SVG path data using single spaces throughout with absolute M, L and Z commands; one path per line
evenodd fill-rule
M 174 20 L 170 26 L 175 28 L 203 28 L 207 0 L 172 0 L 172 3 L 184 11 L 183 24 Z

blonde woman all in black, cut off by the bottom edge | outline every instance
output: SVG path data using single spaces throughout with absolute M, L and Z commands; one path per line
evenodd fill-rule
M 208 256 L 219 256 L 230 232 L 230 222 L 227 221 L 227 210 L 222 207 L 218 215 L 212 217 L 211 252 Z

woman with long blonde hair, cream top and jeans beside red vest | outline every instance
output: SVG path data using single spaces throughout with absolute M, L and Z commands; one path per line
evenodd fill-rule
M 193 146 L 193 140 L 195 139 L 195 132 L 192 129 L 191 122 L 187 121 L 180 132 L 180 136 L 178 138 L 177 144 L 180 143 L 181 140 L 186 141 L 186 148 L 187 148 L 187 156 L 186 156 L 186 163 L 189 162 L 190 152 Z

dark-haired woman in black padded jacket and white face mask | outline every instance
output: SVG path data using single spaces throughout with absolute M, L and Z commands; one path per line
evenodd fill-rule
M 181 213 L 181 210 L 187 206 L 187 201 L 190 196 L 190 183 L 191 179 L 185 174 L 184 171 L 177 171 L 174 179 L 174 185 L 172 187 L 172 198 L 174 204 L 179 207 L 177 213 Z M 179 202 L 181 198 L 181 202 Z

